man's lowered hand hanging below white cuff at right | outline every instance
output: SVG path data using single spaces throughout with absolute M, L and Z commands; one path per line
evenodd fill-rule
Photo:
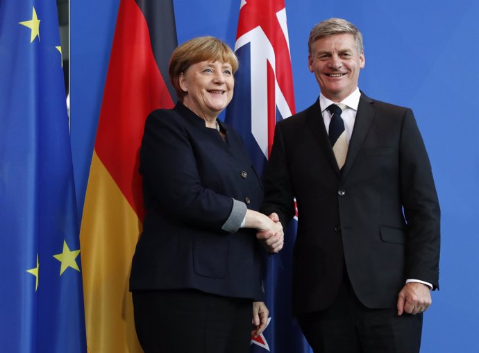
M 413 315 L 422 313 L 428 309 L 431 303 L 430 289 L 426 284 L 407 283 L 398 295 L 398 316 L 403 315 L 403 312 Z

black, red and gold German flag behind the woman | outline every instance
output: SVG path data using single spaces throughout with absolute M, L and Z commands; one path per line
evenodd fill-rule
M 176 45 L 171 0 L 120 1 L 80 234 L 91 353 L 142 352 L 128 292 L 144 217 L 139 150 L 149 112 L 174 106 Z

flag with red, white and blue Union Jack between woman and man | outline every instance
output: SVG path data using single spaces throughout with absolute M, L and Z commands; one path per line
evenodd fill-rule
M 241 0 L 235 53 L 240 69 L 226 122 L 244 139 L 253 166 L 262 175 L 273 144 L 276 121 L 295 112 L 285 0 Z M 251 339 L 251 352 L 310 352 L 291 315 L 292 246 L 296 221 L 285 231 L 285 247 L 263 261 L 268 326 Z

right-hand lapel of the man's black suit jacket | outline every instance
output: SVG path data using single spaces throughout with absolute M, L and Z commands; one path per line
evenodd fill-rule
M 362 142 L 367 135 L 369 127 L 374 120 L 376 110 L 372 105 L 371 98 L 361 92 L 361 98 L 358 105 L 358 113 L 354 122 L 353 135 L 348 146 L 348 154 L 346 155 L 346 163 L 342 170 L 342 177 L 345 178 L 351 166 L 354 163 L 355 157 L 358 155 Z M 324 124 L 323 124 L 324 125 Z

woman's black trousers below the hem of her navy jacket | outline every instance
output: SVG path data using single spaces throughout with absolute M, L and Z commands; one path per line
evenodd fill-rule
M 248 353 L 252 301 L 201 291 L 134 291 L 145 353 Z

